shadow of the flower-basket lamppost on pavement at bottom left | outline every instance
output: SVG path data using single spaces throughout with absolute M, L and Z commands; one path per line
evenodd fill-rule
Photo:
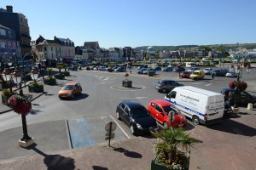
M 41 156 L 44 156 L 44 164 L 49 170 L 52 169 L 63 169 L 63 170 L 73 170 L 75 169 L 74 159 L 70 157 L 64 157 L 61 155 L 47 155 L 43 151 L 36 148 L 37 144 L 32 144 L 32 146 L 26 148 L 27 150 L 34 150 Z

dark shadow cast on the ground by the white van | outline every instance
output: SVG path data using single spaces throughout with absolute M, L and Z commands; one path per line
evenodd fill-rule
M 247 125 L 241 124 L 240 122 L 233 121 L 231 119 L 224 119 L 222 123 L 212 124 L 207 126 L 213 130 L 218 130 L 226 133 L 240 134 L 242 136 L 255 136 L 256 129 L 248 127 Z

